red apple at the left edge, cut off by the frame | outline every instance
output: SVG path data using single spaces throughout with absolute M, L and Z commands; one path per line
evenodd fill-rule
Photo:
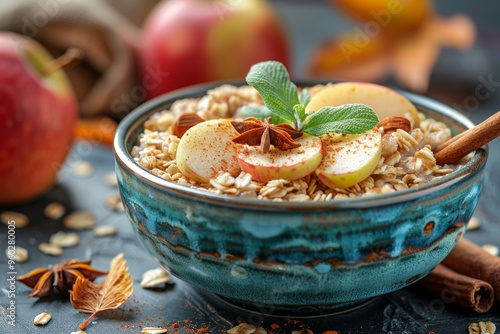
M 78 114 L 65 73 L 36 41 L 0 33 L 0 203 L 29 201 L 55 183 Z

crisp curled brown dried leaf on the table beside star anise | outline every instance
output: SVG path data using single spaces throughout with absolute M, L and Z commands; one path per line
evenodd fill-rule
M 80 324 L 80 329 L 85 329 L 99 312 L 116 309 L 130 297 L 134 281 L 125 264 L 123 254 L 118 254 L 111 260 L 109 273 L 102 283 L 95 284 L 81 277 L 76 279 L 70 292 L 71 304 L 80 312 L 91 313 Z

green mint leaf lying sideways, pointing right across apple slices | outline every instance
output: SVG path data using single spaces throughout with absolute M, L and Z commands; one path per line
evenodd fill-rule
M 377 114 L 364 104 L 344 104 L 323 107 L 304 122 L 302 131 L 321 136 L 328 132 L 359 134 L 373 129 L 379 120 Z

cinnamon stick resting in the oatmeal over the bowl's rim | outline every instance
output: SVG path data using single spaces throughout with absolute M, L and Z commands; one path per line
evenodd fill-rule
M 500 111 L 434 150 L 438 165 L 453 164 L 500 136 Z

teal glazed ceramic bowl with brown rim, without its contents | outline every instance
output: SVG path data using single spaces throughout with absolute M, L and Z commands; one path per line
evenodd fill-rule
M 172 275 L 267 313 L 340 311 L 423 278 L 465 232 L 481 192 L 485 149 L 458 171 L 424 185 L 321 203 L 195 190 L 134 162 L 129 152 L 149 116 L 215 86 L 156 98 L 129 114 L 116 132 L 126 214 L 141 243 Z M 403 94 L 455 133 L 473 125 L 441 103 Z

